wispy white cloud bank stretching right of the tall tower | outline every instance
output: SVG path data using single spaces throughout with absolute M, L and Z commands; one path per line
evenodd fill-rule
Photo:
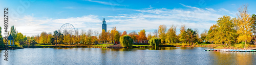
M 177 25 L 177 32 L 179 27 L 185 24 L 188 28 L 198 28 L 200 32 L 204 29 L 209 29 L 212 24 L 216 23 L 218 18 L 229 15 L 234 16 L 234 12 L 230 12 L 226 9 L 200 9 L 197 7 L 191 7 L 181 4 L 184 7 L 191 8 L 191 10 L 183 9 L 152 9 L 152 10 L 135 10 L 140 13 L 125 14 L 118 16 L 110 16 L 114 19 L 110 19 L 110 22 L 116 23 L 119 27 L 118 30 L 141 30 L 153 32 L 153 29 L 157 29 L 159 25 L 165 24 L 167 28 L 170 25 Z

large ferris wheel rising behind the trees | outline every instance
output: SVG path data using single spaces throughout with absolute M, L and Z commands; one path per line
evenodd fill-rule
M 60 27 L 60 32 L 63 34 L 63 35 L 74 35 L 75 32 L 76 32 L 76 29 L 75 27 L 70 24 L 70 23 L 65 23 L 63 24 L 61 27 Z

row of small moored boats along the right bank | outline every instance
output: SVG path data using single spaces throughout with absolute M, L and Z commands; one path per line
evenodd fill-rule
M 242 50 L 242 49 L 204 49 L 204 51 L 256 52 L 256 50 Z

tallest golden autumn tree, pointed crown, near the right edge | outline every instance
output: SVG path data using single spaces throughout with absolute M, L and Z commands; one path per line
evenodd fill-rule
M 251 38 L 251 28 L 250 26 L 252 25 L 250 23 L 251 17 L 248 14 L 248 10 L 247 10 L 248 5 L 243 5 L 243 7 L 239 8 L 238 11 L 238 31 L 237 34 L 239 34 L 238 36 L 238 41 L 242 42 L 244 41 L 245 44 L 247 42 L 250 42 Z

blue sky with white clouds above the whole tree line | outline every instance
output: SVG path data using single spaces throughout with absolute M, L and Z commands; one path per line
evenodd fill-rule
M 25 3 L 25 4 L 24 4 Z M 27 36 L 42 31 L 53 32 L 62 24 L 71 23 L 78 30 L 97 30 L 101 32 L 103 18 L 108 30 L 128 33 L 135 30 L 153 32 L 159 25 L 185 24 L 187 28 L 197 28 L 199 33 L 209 29 L 223 15 L 237 17 L 238 8 L 248 4 L 249 14 L 255 14 L 255 1 L 137 1 L 137 0 L 62 0 L 62 1 L 0 1 L 1 9 L 9 8 L 10 24 Z M 3 10 L 2 10 L 3 11 Z M 13 16 L 12 14 L 15 13 Z M 0 13 L 3 15 L 3 13 Z M 3 21 L 3 16 L 0 21 Z M 3 24 L 0 24 L 3 27 Z M 3 30 L 3 29 L 2 29 Z

